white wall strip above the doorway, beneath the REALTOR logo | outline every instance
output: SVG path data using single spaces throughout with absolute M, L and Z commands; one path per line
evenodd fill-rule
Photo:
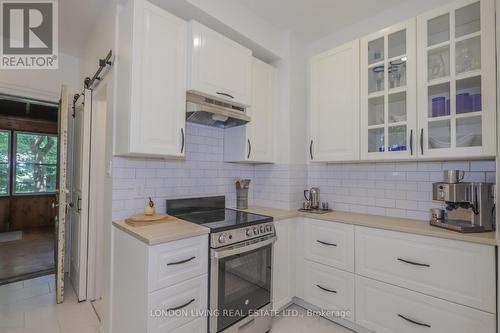
M 79 59 L 59 53 L 59 69 L 0 70 L 0 93 L 57 102 L 61 85 L 79 87 Z

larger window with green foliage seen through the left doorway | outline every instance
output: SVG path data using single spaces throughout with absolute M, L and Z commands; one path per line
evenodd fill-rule
M 55 192 L 57 184 L 57 136 L 15 133 L 14 193 Z

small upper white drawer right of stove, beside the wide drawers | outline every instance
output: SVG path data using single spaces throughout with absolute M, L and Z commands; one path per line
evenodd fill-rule
M 304 219 L 306 259 L 354 272 L 354 226 Z

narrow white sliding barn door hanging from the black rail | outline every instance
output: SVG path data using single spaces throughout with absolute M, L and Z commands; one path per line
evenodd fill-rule
M 70 279 L 79 301 L 87 299 L 91 111 L 92 91 L 86 89 L 75 105 L 73 137 Z

